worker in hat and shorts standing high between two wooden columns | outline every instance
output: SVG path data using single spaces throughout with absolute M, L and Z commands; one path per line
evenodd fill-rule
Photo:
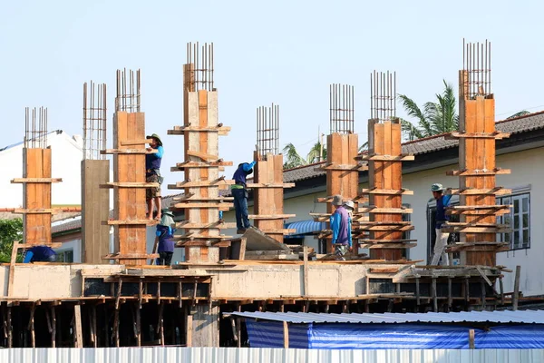
M 160 161 L 164 154 L 162 142 L 156 133 L 153 133 L 151 136 L 148 135 L 146 138 L 151 139 L 150 147 L 147 148 L 147 151 L 157 150 L 157 152 L 145 155 L 145 182 L 158 182 L 161 184 L 164 179 L 160 176 Z M 153 207 L 155 206 L 157 207 L 157 217 L 155 219 L 160 221 L 160 186 L 146 189 L 145 197 L 148 203 L 148 219 L 153 219 Z

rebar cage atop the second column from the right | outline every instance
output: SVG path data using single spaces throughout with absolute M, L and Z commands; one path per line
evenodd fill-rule
M 396 73 L 370 74 L 370 119 L 383 123 L 396 118 Z

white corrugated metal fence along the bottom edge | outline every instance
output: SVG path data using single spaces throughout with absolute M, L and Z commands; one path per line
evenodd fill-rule
M 540 363 L 544 349 L 11 348 L 9 363 Z

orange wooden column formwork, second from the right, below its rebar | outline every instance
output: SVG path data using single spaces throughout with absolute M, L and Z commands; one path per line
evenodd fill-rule
M 413 240 L 403 239 L 403 232 L 413 230 L 409 221 L 403 221 L 403 214 L 412 212 L 403 208 L 403 195 L 413 194 L 403 189 L 403 162 L 413 160 L 413 155 L 402 153 L 398 119 L 383 123 L 370 120 L 368 146 L 368 153 L 358 158 L 368 162 L 369 183 L 362 195 L 368 196 L 369 204 L 363 207 L 370 218 L 357 227 L 369 236 L 359 236 L 361 247 L 370 250 L 371 259 L 402 260 L 403 250 L 415 246 L 409 243 Z

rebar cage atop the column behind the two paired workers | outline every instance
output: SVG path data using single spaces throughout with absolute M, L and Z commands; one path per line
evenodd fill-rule
M 329 118 L 331 133 L 354 133 L 354 86 L 331 84 L 329 86 Z

